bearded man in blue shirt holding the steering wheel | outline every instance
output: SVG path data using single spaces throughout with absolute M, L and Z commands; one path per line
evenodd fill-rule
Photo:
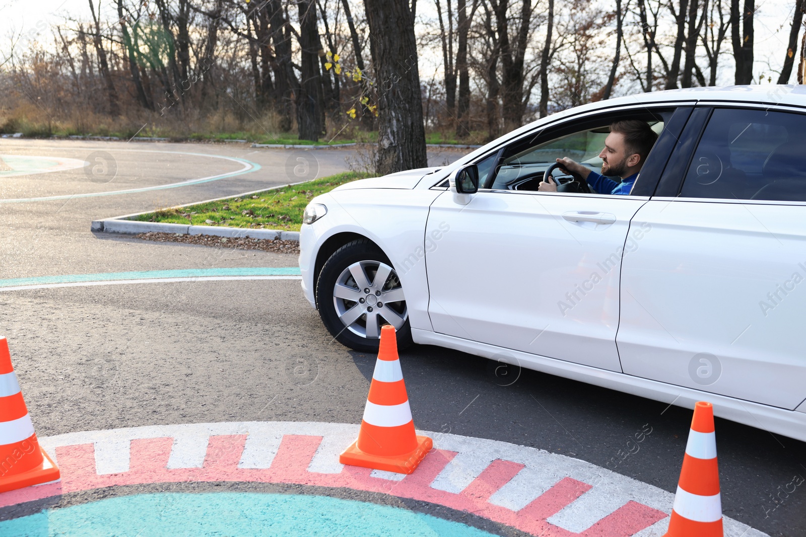
M 557 162 L 560 163 L 561 170 L 579 174 L 600 194 L 627 196 L 633 189 L 638 171 L 641 171 L 646 156 L 650 154 L 657 139 L 658 134 L 655 134 L 647 122 L 625 119 L 610 125 L 610 134 L 605 138 L 605 148 L 599 154 L 599 158 L 602 159 L 601 174 L 568 157 L 557 159 Z M 621 178 L 621 183 L 605 176 L 618 176 Z M 551 177 L 547 179 L 550 182 L 542 181 L 538 191 L 557 192 L 555 180 Z

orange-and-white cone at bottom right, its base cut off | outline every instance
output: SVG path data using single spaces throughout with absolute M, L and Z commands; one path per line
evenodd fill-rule
M 722 502 L 717 469 L 717 439 L 713 405 L 694 405 L 692 430 L 688 433 L 683 469 L 671 510 L 669 531 L 664 537 L 722 537 Z

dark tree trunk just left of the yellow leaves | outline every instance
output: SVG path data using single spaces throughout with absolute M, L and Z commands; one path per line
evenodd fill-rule
M 301 140 L 317 142 L 325 131 L 322 75 L 319 72 L 319 31 L 314 0 L 297 2 L 300 21 L 300 87 L 297 91 L 297 128 Z

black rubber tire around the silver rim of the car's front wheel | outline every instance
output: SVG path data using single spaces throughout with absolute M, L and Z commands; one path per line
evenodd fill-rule
M 381 264 L 391 267 L 392 272 L 389 273 L 388 278 L 384 279 L 383 289 L 386 291 L 382 291 L 382 293 L 385 294 L 389 291 L 397 291 L 396 294 L 400 294 L 402 292 L 398 291 L 401 287 L 397 279 L 397 274 L 394 272 L 392 263 L 384 252 L 368 239 L 357 239 L 348 242 L 346 245 L 339 248 L 339 250 L 336 250 L 325 262 L 325 265 L 322 266 L 322 271 L 319 273 L 319 279 L 316 283 L 316 305 L 319 309 L 319 316 L 322 317 L 322 322 L 325 324 L 328 332 L 330 332 L 339 343 L 350 349 L 376 353 L 380 339 L 367 337 L 366 334 L 370 332 L 370 336 L 372 336 L 372 327 L 374 324 L 372 324 L 369 329 L 367 328 L 370 314 L 361 310 L 364 311 L 364 314 L 359 316 L 350 326 L 345 326 L 339 318 L 339 311 L 337 311 L 337 308 L 353 311 L 351 308 L 359 307 L 358 302 L 334 297 L 336 283 L 339 282 L 339 279 L 344 279 L 346 271 L 349 271 L 349 267 L 355 265 L 355 263 L 361 264 L 364 275 L 368 277 L 368 281 L 369 278 L 372 277 L 371 285 L 376 284 L 374 279 L 377 271 L 380 270 Z M 376 267 L 375 273 L 372 273 L 373 266 Z M 361 291 L 359 287 L 357 287 L 355 279 L 350 278 L 351 276 L 347 275 L 347 282 L 341 282 L 341 284 L 345 285 L 345 287 L 355 287 L 357 292 Z M 380 295 L 380 298 L 382 298 L 384 294 Z M 361 299 L 364 299 L 364 295 L 362 295 Z M 372 296 L 371 299 L 377 300 L 376 296 Z M 408 312 L 405 309 L 405 299 L 403 301 L 393 301 L 388 304 L 381 302 L 381 304 L 382 306 L 380 308 L 367 308 L 374 311 L 372 320 L 377 320 L 378 324 L 393 324 L 384 318 L 384 312 L 386 312 L 388 316 L 396 313 L 397 316 L 405 318 L 405 322 L 397 329 L 397 348 L 405 349 L 412 343 L 411 325 L 409 324 Z M 366 306 L 360 306 L 360 308 L 366 308 Z M 384 310 L 384 308 L 386 309 Z M 390 311 L 389 308 L 393 308 L 393 311 Z M 359 310 L 355 310 L 355 312 L 358 311 Z M 379 316 L 380 319 L 378 319 Z M 399 321 L 397 322 L 399 324 Z M 362 333 L 362 330 L 364 333 Z M 380 333 L 380 330 L 378 332 Z

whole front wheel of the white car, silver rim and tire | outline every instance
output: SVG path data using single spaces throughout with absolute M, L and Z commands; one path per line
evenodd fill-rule
M 319 274 L 316 301 L 322 322 L 342 345 L 376 352 L 384 324 L 395 327 L 399 348 L 411 344 L 400 279 L 368 239 L 348 242 L 330 256 Z

